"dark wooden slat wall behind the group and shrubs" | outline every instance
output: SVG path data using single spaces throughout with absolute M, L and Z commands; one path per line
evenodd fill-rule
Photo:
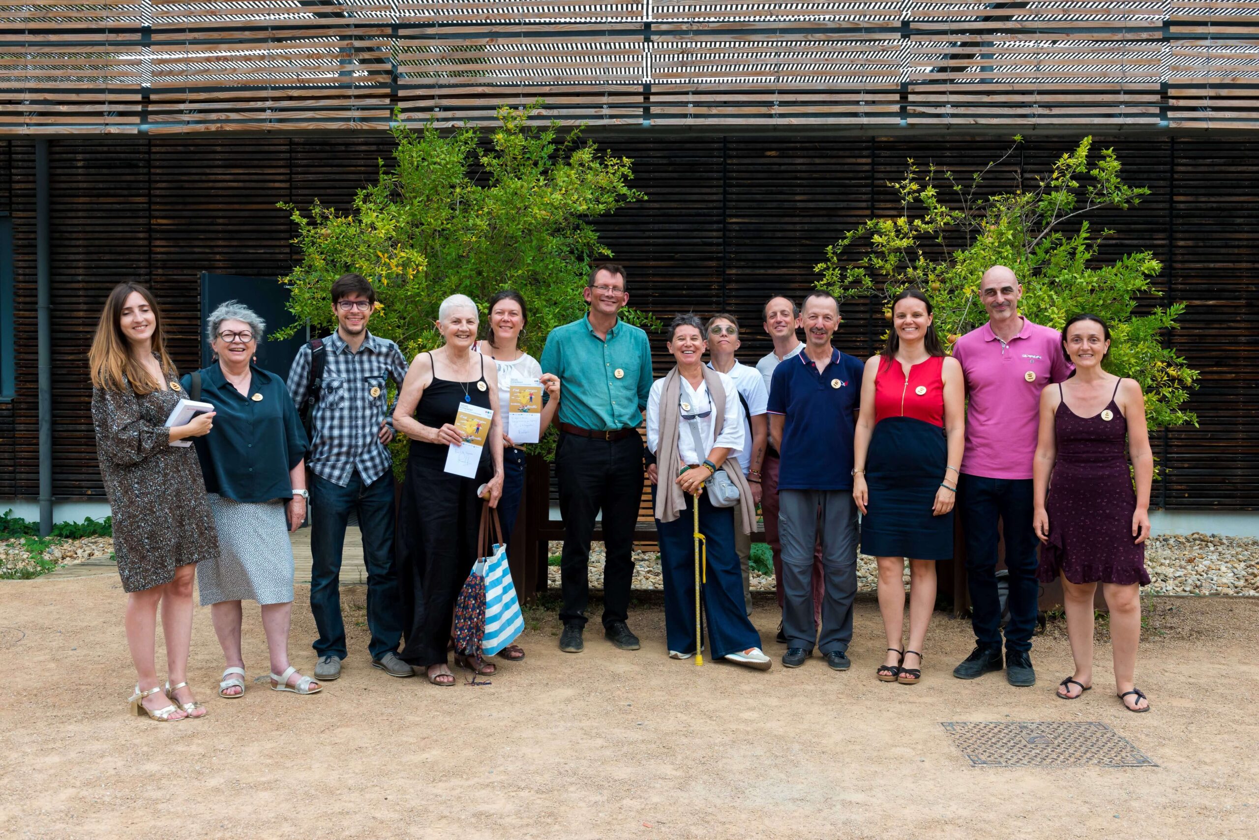
M 276 206 L 315 199 L 346 207 L 389 160 L 384 135 L 324 137 L 65 137 L 50 141 L 54 352 L 54 493 L 101 498 L 88 414 L 86 352 L 112 284 L 149 283 L 164 304 L 176 362 L 196 363 L 200 272 L 279 275 L 297 258 Z M 871 214 L 895 214 L 889 181 L 906 157 L 957 172 L 1006 150 L 992 137 L 905 135 L 866 138 L 730 135 L 648 136 L 606 131 L 601 145 L 633 158 L 647 200 L 599 221 L 630 268 L 636 306 L 662 319 L 724 309 L 744 323 L 740 356 L 767 352 L 760 306 L 801 296 L 826 245 Z M 1176 347 L 1202 371 L 1190 407 L 1201 426 L 1153 438 L 1167 480 L 1155 503 L 1173 509 L 1259 508 L 1259 141 L 1200 135 L 1099 137 L 1133 184 L 1139 207 L 1094 219 L 1117 231 L 1107 254 L 1149 249 L 1165 264 L 1166 301 L 1188 304 Z M 990 189 L 1017 186 L 1071 147 L 1032 140 L 990 174 Z M 21 356 L 16 396 L 0 402 L 0 497 L 38 494 L 34 143 L 0 140 L 0 213 L 14 221 Z M 879 308 L 850 303 L 838 343 L 874 350 Z M 8 326 L 5 326 L 8 328 Z M 667 368 L 656 342 L 657 368 Z

